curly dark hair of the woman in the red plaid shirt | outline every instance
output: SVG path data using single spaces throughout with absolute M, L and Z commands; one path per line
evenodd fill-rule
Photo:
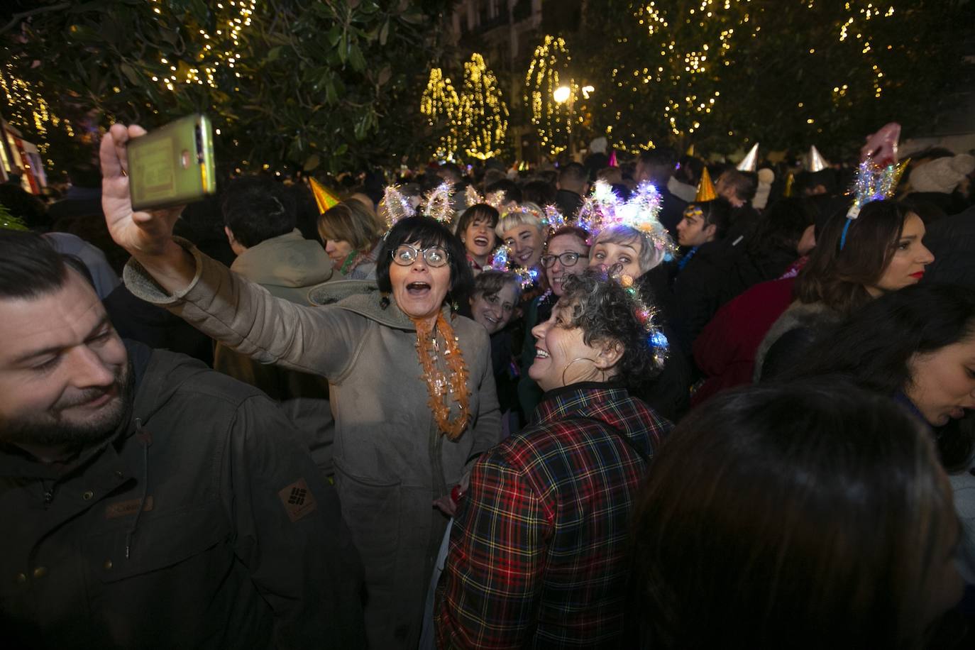
M 614 341 L 623 346 L 618 377 L 627 388 L 639 391 L 660 373 L 653 361 L 648 336 L 637 318 L 635 303 L 618 281 L 608 279 L 602 269 L 590 267 L 569 276 L 559 304 L 571 306 L 566 327 L 580 327 L 586 345 Z

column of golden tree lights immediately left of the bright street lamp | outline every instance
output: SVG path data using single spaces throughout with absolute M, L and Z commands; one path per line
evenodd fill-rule
M 568 74 L 571 60 L 565 39 L 546 35 L 535 48 L 525 77 L 525 105 L 531 107 L 531 124 L 538 132 L 542 147 L 553 156 L 565 150 L 575 126 L 569 122 L 571 113 L 567 102 L 554 98 L 557 88 L 572 85 Z M 571 93 L 576 91 L 570 88 Z M 578 120 L 581 119 L 580 112 Z

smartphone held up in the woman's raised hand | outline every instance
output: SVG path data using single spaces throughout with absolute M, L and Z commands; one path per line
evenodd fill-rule
M 188 115 L 133 138 L 126 149 L 135 210 L 182 206 L 216 191 L 213 129 L 206 115 Z

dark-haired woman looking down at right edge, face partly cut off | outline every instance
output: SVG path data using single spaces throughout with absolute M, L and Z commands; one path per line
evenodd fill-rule
M 783 377 L 840 376 L 927 423 L 962 522 L 960 567 L 975 588 L 975 290 L 922 283 L 879 296 L 826 329 Z

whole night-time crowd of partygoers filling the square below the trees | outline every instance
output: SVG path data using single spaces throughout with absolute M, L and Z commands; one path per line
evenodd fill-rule
M 0 190 L 4 645 L 975 640 L 970 155 L 137 211 L 141 134 Z

